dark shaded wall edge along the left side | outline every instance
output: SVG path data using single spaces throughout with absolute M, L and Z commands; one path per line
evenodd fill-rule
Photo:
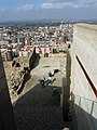
M 14 113 L 8 90 L 0 53 L 0 130 L 16 130 Z

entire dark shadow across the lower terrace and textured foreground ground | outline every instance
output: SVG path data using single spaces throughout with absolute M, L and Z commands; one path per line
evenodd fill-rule
M 61 88 L 56 87 L 58 94 L 52 96 L 53 88 L 37 83 L 18 99 L 14 107 L 17 130 L 64 130 L 70 127 L 71 123 L 65 122 L 63 117 Z

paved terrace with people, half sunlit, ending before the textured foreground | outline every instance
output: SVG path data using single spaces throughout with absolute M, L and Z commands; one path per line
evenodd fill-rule
M 60 103 L 60 90 L 63 86 L 63 78 L 66 75 L 66 58 L 63 57 L 42 57 L 40 58 L 39 65 L 31 70 L 31 77 L 27 81 L 22 94 L 18 96 L 17 104 L 30 104 L 32 106 L 36 105 L 51 105 L 48 101 L 55 99 L 56 103 L 52 103 L 52 105 L 59 105 Z M 52 79 L 56 78 L 53 84 L 50 84 L 45 88 L 40 86 L 39 79 L 42 79 L 45 76 L 48 79 L 48 73 L 54 69 L 59 69 L 59 73 L 56 73 Z M 56 98 L 52 96 L 53 87 L 57 87 L 59 94 Z

